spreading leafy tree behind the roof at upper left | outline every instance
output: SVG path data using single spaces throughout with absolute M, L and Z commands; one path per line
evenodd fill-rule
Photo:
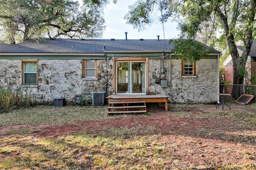
M 2 41 L 16 43 L 37 37 L 101 37 L 100 8 L 72 0 L 0 0 Z

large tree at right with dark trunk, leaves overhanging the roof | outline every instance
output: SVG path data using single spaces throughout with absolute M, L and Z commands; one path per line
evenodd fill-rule
M 178 21 L 181 38 L 199 38 L 210 45 L 219 42 L 218 47 L 227 45 L 234 63 L 233 83 L 243 84 L 245 64 L 256 37 L 256 0 L 138 0 L 136 4 L 125 16 L 127 23 L 134 27 L 149 23 L 147 18 L 155 4 L 162 11 L 161 20 Z M 140 12 L 135 13 L 137 10 Z M 236 48 L 237 41 L 244 43 L 241 56 Z M 239 97 L 239 89 L 233 88 L 232 94 Z

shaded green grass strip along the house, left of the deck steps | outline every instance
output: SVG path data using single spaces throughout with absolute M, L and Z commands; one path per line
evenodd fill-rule
M 36 106 L 0 114 L 0 126 L 11 125 L 64 125 L 83 121 L 114 119 L 147 115 L 107 115 L 108 106 Z

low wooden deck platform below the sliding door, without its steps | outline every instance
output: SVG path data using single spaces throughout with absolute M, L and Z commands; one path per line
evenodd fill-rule
M 109 102 L 142 102 L 158 103 L 161 106 L 165 103 L 165 110 L 168 111 L 168 97 L 162 94 L 154 95 L 134 95 L 134 94 L 112 94 L 107 97 Z

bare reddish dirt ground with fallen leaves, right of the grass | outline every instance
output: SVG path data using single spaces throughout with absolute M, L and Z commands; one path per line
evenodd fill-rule
M 168 145 L 167 149 L 174 153 L 181 166 L 188 165 L 246 165 L 256 169 L 256 127 L 246 128 L 234 119 L 226 118 L 195 118 L 198 112 L 208 114 L 218 112 L 256 113 L 255 107 L 234 105 L 231 110 L 221 107 L 185 107 L 184 111 L 192 112 L 192 116 L 177 117 L 172 110 L 150 108 L 148 117 L 116 117 L 102 121 L 86 121 L 79 124 L 50 126 L 41 125 L 42 130 L 32 132 L 32 135 L 42 137 L 58 137 L 83 131 L 95 134 L 108 128 L 147 127 L 158 129 L 161 134 L 158 141 Z M 12 128 L 24 128 L 16 126 Z M 28 127 L 29 128 L 29 127 Z M 2 129 L 1 131 L 3 131 Z M 158 133 L 156 132 L 156 133 Z M 138 134 L 140 135 L 140 134 Z M 143 132 L 141 132 L 141 135 Z M 181 163 L 180 163 L 181 164 Z M 254 169 L 252 167 L 252 169 Z

